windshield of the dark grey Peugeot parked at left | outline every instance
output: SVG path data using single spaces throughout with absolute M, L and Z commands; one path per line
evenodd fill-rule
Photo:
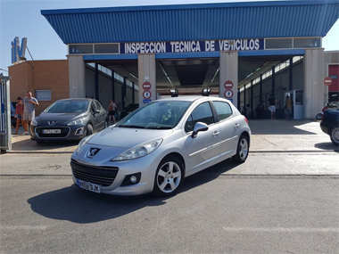
M 45 109 L 45 113 L 83 113 L 87 111 L 87 101 L 57 101 Z

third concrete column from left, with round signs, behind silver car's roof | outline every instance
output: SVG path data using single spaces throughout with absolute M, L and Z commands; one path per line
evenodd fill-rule
M 220 52 L 220 71 L 219 71 L 219 97 L 227 98 L 231 90 L 233 95 L 227 98 L 237 107 L 238 105 L 238 52 L 223 51 Z M 225 86 L 225 83 L 232 82 L 233 86 Z

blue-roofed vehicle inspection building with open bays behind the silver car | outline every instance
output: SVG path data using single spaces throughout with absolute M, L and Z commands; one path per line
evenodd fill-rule
M 113 98 L 124 108 L 205 91 L 252 117 L 268 94 L 283 109 L 285 95 L 297 93 L 305 119 L 326 102 L 321 40 L 339 18 L 335 0 L 41 13 L 68 45 L 69 97 L 94 96 L 103 106 Z

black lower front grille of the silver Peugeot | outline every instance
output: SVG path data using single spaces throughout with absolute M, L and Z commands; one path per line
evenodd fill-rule
M 70 167 L 73 176 L 79 180 L 109 186 L 113 184 L 118 174 L 117 167 L 95 167 L 79 163 L 77 160 L 70 160 Z

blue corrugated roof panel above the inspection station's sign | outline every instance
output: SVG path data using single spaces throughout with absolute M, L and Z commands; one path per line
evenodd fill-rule
M 339 1 L 178 4 L 41 11 L 64 44 L 325 37 Z

